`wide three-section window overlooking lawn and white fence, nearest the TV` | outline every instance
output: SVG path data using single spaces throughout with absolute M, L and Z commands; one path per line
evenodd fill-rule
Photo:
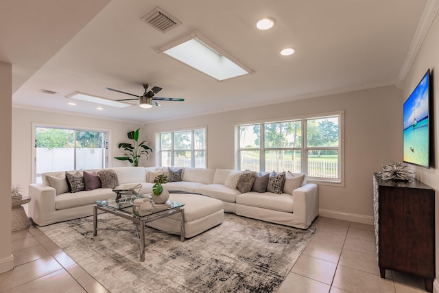
M 237 168 L 342 183 L 342 114 L 237 126 Z

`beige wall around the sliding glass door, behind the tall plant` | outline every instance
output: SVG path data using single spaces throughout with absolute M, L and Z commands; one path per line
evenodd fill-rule
M 12 108 L 12 184 L 21 185 L 25 196 L 28 194 L 27 186 L 32 183 L 32 148 L 35 145 L 31 137 L 32 123 L 110 130 L 112 144 L 108 146 L 108 167 L 130 165 L 128 161 L 118 161 L 113 157 L 123 155 L 123 152 L 117 148 L 119 143 L 131 142 L 126 135 L 127 132 L 141 128 L 139 124 L 121 121 Z M 145 137 L 145 133 L 141 128 L 141 138 Z M 143 159 L 140 165 L 146 164 Z

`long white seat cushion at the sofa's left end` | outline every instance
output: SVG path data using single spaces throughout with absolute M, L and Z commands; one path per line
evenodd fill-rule
M 116 194 L 108 188 L 78 191 L 74 194 L 67 192 L 67 194 L 60 194 L 56 197 L 55 209 L 83 207 L 88 204 L 94 204 L 96 200 L 108 200 L 109 198 L 116 198 Z

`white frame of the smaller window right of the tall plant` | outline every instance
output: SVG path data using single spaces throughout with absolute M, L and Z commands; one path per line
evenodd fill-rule
M 204 131 L 204 149 L 195 149 L 195 132 L 203 130 Z M 174 134 L 178 132 L 191 132 L 191 148 L 190 149 L 175 149 L 174 145 Z M 162 149 L 162 134 L 171 134 L 171 149 Z M 163 161 L 162 161 L 162 153 L 163 152 L 170 152 L 171 156 L 171 165 L 167 167 L 184 167 L 184 166 L 176 166 L 175 165 L 175 153 L 176 152 L 191 152 L 191 167 L 195 167 L 195 153 L 196 152 L 204 152 L 204 168 L 207 167 L 207 128 L 206 127 L 197 127 L 197 128 L 189 128 L 189 129 L 178 129 L 178 130 L 168 130 L 168 131 L 162 131 L 156 133 L 156 149 L 158 152 L 156 152 L 156 161 L 158 162 L 158 165 L 163 167 Z

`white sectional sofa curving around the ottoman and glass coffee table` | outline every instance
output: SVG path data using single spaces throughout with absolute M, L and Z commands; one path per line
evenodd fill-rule
M 113 167 L 108 169 L 117 174 L 119 186 L 128 183 L 141 183 L 140 193 L 147 194 L 152 192 L 154 174 L 162 167 Z M 167 171 L 166 168 L 163 170 Z M 88 170 L 87 172 L 93 171 L 99 172 L 99 170 Z M 182 169 L 181 181 L 169 182 L 164 186 L 171 191 L 187 191 L 221 200 L 224 211 L 228 213 L 236 213 L 248 218 L 296 228 L 308 228 L 318 216 L 318 186 L 307 183 L 306 178 L 300 187 L 292 191 L 292 194 L 255 191 L 241 194 L 239 190 L 225 185 L 232 172 L 236 171 L 186 167 Z M 82 174 L 82 172 L 80 173 Z M 74 193 L 66 191 L 64 186 L 60 187 L 60 184 L 64 184 L 65 174 L 66 172 L 45 173 L 43 174 L 43 183 L 29 185 L 29 196 L 32 198 L 29 202 L 29 214 L 36 224 L 45 226 L 92 215 L 95 200 L 106 200 L 116 196 L 111 188 L 97 188 Z M 154 178 L 150 178 L 152 176 Z M 53 182 L 54 178 L 57 178 L 56 183 Z M 49 182 L 49 179 L 52 182 Z M 184 194 L 178 198 L 182 200 Z M 196 201 L 189 201 L 190 204 L 197 204 Z

